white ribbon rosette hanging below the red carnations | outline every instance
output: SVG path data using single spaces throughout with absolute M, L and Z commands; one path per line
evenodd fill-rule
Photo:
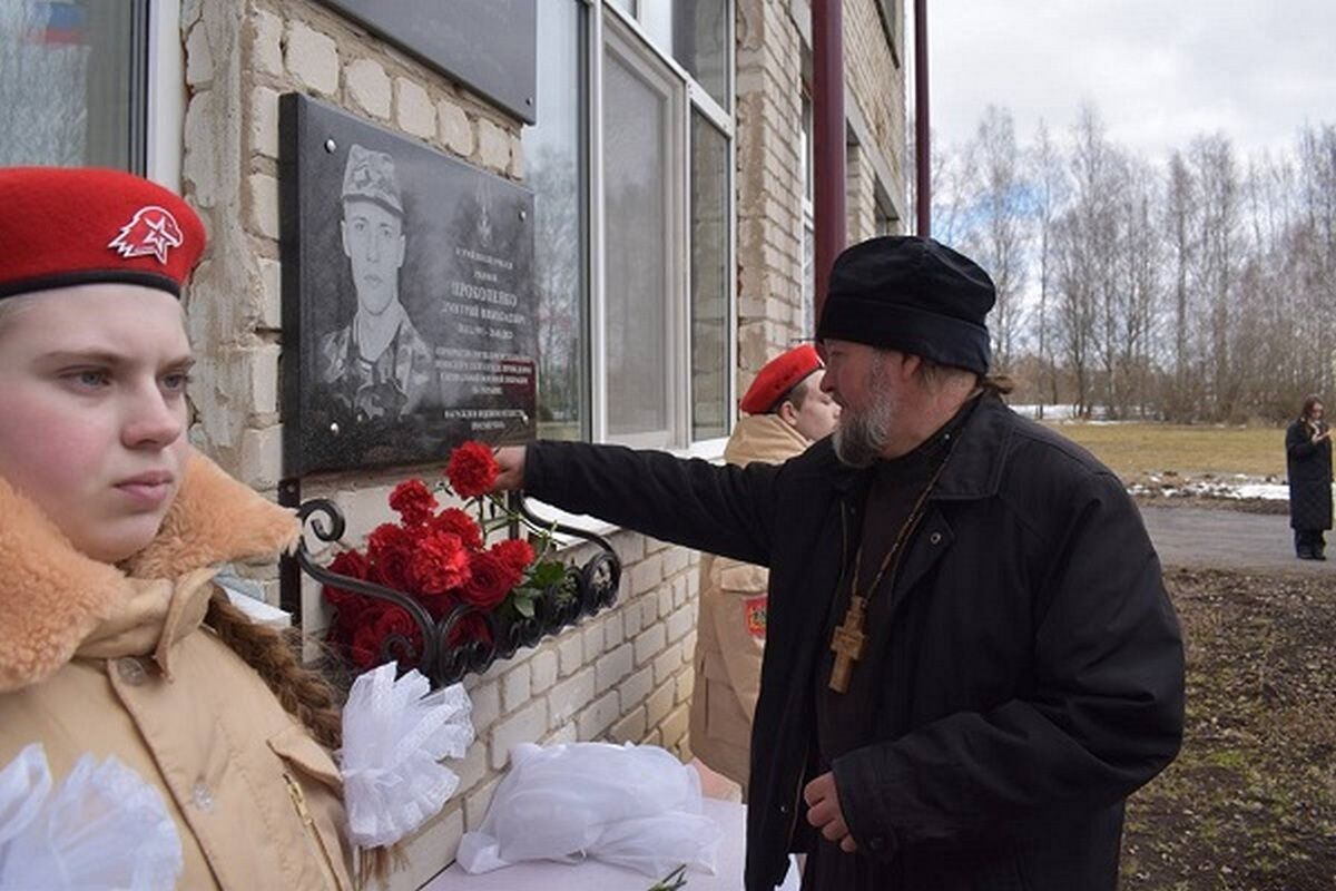
M 394 844 L 436 816 L 460 785 L 441 759 L 464 757 L 473 704 L 461 684 L 434 693 L 410 671 L 374 668 L 343 707 L 343 800 L 349 835 L 363 848 Z

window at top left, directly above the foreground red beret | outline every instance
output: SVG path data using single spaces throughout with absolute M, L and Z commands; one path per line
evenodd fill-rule
M 147 168 L 148 0 L 0 3 L 0 164 Z

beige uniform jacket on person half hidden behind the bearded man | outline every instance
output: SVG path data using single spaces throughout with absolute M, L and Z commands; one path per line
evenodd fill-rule
M 741 418 L 724 449 L 728 464 L 782 464 L 811 442 L 774 414 Z M 691 751 L 711 769 L 747 789 L 751 723 L 766 649 L 768 570 L 727 557 L 700 564 L 696 621 L 696 687 L 691 700 Z

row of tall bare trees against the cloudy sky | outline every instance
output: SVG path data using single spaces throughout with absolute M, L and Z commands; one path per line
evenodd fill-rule
M 1198 136 L 1161 167 L 1086 106 L 1070 144 L 1041 124 L 1023 159 L 1014 146 L 990 108 L 943 147 L 941 219 L 994 275 L 999 366 L 1030 369 L 1041 402 L 1192 422 L 1336 401 L 1336 126 L 1244 164 L 1224 135 Z

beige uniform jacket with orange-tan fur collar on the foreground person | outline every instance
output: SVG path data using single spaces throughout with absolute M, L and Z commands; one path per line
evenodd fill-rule
M 180 888 L 350 888 L 330 755 L 200 622 L 222 562 L 297 522 L 200 457 L 159 537 L 116 568 L 0 480 L 0 765 L 41 743 L 55 781 L 91 752 L 156 787 Z

